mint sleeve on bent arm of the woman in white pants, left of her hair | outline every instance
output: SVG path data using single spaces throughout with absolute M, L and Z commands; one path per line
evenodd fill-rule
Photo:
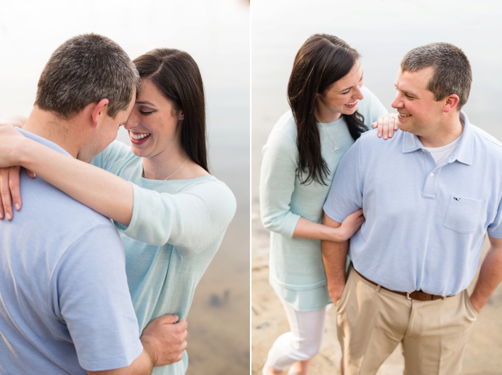
M 273 131 L 263 147 L 260 212 L 268 230 L 291 238 L 300 215 L 291 212 L 291 196 L 298 172 L 298 148 L 281 130 Z

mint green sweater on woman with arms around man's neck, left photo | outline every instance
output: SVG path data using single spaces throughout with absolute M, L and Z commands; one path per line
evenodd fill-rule
M 164 182 L 143 179 L 141 157 L 117 141 L 92 164 L 133 186 L 131 223 L 129 227 L 115 225 L 126 252 L 127 280 L 139 333 L 166 313 L 185 319 L 195 287 L 234 217 L 234 194 L 214 176 Z M 182 375 L 187 364 L 185 352 L 181 361 L 155 367 L 153 374 Z

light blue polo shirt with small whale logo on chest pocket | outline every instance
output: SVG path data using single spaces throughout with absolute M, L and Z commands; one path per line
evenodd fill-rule
M 397 291 L 453 295 L 467 288 L 485 233 L 502 238 L 502 144 L 469 123 L 446 164 L 416 135 L 369 131 L 344 155 L 324 204 L 334 221 L 363 208 L 349 256 L 366 278 Z

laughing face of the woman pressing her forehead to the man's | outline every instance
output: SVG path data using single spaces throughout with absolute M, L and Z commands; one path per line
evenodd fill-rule
M 124 126 L 135 155 L 154 157 L 179 142 L 183 113 L 148 78 L 141 80 L 141 93 Z

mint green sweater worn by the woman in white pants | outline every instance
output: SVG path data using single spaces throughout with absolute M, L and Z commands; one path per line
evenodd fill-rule
M 369 129 L 373 121 L 388 111 L 367 88 L 362 87 L 361 91 L 364 99 L 359 101 L 358 112 L 364 116 L 364 124 Z M 331 302 L 326 287 L 321 241 L 294 238 L 292 235 L 300 216 L 315 223 L 322 222 L 322 207 L 334 172 L 344 153 L 354 143 L 343 117 L 323 125 L 318 126 L 322 154 L 329 168 L 327 186 L 315 182 L 301 184 L 297 127 L 291 111 L 279 119 L 263 147 L 260 211 L 263 225 L 271 231 L 270 285 L 282 301 L 297 311 L 320 310 Z M 340 149 L 331 152 L 333 140 L 337 141 Z

